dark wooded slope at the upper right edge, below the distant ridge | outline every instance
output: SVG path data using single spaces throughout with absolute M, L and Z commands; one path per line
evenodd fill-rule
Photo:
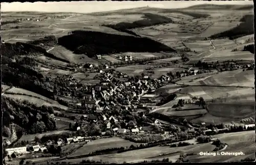
M 254 16 L 253 15 L 245 15 L 240 21 L 241 23 L 237 27 L 234 27 L 222 33 L 211 35 L 209 38 L 218 39 L 218 38 L 228 37 L 229 39 L 236 39 L 236 38 L 254 33 L 254 28 L 253 28 Z

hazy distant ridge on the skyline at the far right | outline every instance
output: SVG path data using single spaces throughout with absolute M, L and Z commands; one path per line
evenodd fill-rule
M 250 10 L 253 5 L 215 5 L 215 4 L 201 4 L 194 5 L 184 9 L 207 9 L 207 10 Z

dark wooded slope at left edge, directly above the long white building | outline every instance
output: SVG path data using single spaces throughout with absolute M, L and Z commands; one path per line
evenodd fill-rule
M 56 130 L 56 123 L 50 116 L 52 107 L 36 107 L 24 101 L 2 98 L 3 135 L 21 136 L 24 133 L 34 134 Z M 15 125 L 15 128 L 12 128 Z M 12 129 L 12 130 L 11 130 Z M 14 140 L 17 137 L 14 137 Z

